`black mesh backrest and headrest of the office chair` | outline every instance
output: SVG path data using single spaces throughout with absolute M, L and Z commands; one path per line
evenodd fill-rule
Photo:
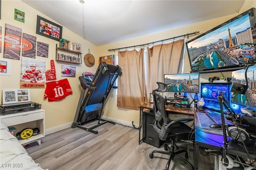
M 170 123 L 170 119 L 168 118 L 168 114 L 166 113 L 165 99 L 158 92 L 165 92 L 167 89 L 167 85 L 162 82 L 156 83 L 158 84 L 158 88 L 152 91 L 155 115 L 153 127 L 156 132 L 161 135 L 160 139 L 166 139 L 166 137 L 168 136 L 168 132 L 164 127 Z

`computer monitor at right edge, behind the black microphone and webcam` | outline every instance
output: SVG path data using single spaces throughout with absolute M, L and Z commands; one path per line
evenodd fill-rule
M 247 70 L 248 88 L 245 94 L 231 92 L 231 106 L 235 111 L 240 112 L 241 107 L 256 111 L 256 65 L 249 66 Z M 245 69 L 232 72 L 232 83 L 246 85 Z

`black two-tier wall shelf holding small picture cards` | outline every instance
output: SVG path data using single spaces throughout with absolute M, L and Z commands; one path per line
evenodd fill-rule
M 59 53 L 59 51 L 65 52 L 65 53 L 69 53 L 69 54 L 62 54 Z M 72 54 L 75 54 L 76 56 L 72 56 Z M 70 56 L 70 60 L 68 60 L 66 56 Z M 76 57 L 76 62 L 72 61 L 72 57 Z M 74 63 L 74 64 L 82 64 L 82 53 L 81 52 L 77 52 L 77 51 L 72 51 L 69 49 L 63 49 L 58 47 L 58 44 L 56 44 L 56 61 L 63 61 L 66 63 Z

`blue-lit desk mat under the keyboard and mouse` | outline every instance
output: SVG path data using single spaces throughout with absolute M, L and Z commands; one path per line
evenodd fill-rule
M 213 129 L 210 128 L 210 125 L 215 123 L 214 121 L 212 121 L 212 119 L 210 119 L 210 117 L 208 117 L 206 115 L 206 113 L 200 113 L 200 112 L 196 112 L 198 120 L 200 122 L 200 125 L 202 127 L 202 130 L 205 133 L 212 133 L 215 135 L 222 135 L 223 136 L 223 132 L 222 129 Z

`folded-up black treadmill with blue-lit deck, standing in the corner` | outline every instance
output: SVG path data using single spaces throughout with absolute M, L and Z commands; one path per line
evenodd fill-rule
M 97 134 L 98 131 L 93 130 L 105 123 L 112 123 L 112 121 L 106 121 L 101 119 L 102 110 L 108 94 L 110 93 L 114 82 L 118 76 L 122 75 L 122 70 L 119 66 L 106 64 L 101 62 L 94 75 L 91 84 L 88 84 L 84 76 L 80 76 L 80 84 L 82 86 L 82 92 L 76 108 L 76 114 L 72 123 L 72 128 L 78 127 L 86 131 Z M 85 94 L 86 89 L 88 89 Z M 84 127 L 85 123 L 92 120 L 98 120 L 98 124 L 92 127 Z M 100 122 L 102 121 L 102 122 Z

